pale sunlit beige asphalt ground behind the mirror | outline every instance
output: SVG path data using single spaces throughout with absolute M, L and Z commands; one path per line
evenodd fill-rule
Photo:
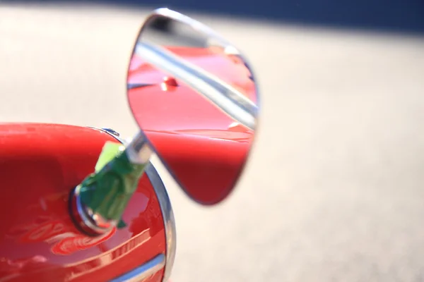
M 0 6 L 0 119 L 131 136 L 126 66 L 146 11 Z M 160 169 L 173 281 L 424 281 L 424 38 L 193 15 L 249 56 L 257 142 L 199 207 Z

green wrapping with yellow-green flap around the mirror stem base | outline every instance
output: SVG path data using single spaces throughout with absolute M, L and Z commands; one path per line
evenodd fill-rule
M 80 185 L 81 202 L 93 213 L 107 221 L 119 221 L 117 227 L 126 226 L 122 214 L 134 194 L 146 164 L 132 164 L 124 146 L 106 142 L 95 166 Z

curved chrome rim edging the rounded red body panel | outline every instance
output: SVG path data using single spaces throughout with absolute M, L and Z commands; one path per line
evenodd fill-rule
M 119 142 L 124 144 L 124 140 L 119 138 L 117 135 L 110 133 L 110 131 L 103 128 L 95 128 L 90 127 L 95 130 L 100 130 L 105 132 L 112 137 L 116 138 Z M 125 144 L 124 144 L 125 145 Z M 174 213 L 172 212 L 172 206 L 170 202 L 170 197 L 167 195 L 165 185 L 160 179 L 158 171 L 156 171 L 155 167 L 152 163 L 146 166 L 144 171 L 148 179 L 153 185 L 153 189 L 155 190 L 156 197 L 158 197 L 160 212 L 162 212 L 163 222 L 165 226 L 165 239 L 166 239 L 166 264 L 165 264 L 165 272 L 163 276 L 163 281 L 167 281 L 170 278 L 172 266 L 174 265 L 175 252 L 177 247 L 177 231 L 175 228 L 175 218 Z

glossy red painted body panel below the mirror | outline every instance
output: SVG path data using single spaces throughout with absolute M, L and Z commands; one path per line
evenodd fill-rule
M 93 172 L 108 140 L 117 141 L 92 128 L 0 124 L 1 281 L 109 281 L 165 254 L 163 218 L 146 175 L 124 213 L 128 227 L 90 238 L 72 223 L 69 193 Z

